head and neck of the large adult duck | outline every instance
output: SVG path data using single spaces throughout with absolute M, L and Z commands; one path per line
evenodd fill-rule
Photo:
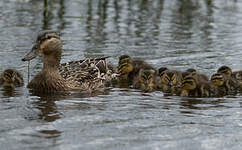
M 22 61 L 30 61 L 39 54 L 44 55 L 45 66 L 58 67 L 61 60 L 62 42 L 60 36 L 56 31 L 46 30 L 38 34 L 32 50 L 22 59 Z

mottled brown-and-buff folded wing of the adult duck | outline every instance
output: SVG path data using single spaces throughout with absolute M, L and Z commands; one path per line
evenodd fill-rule
M 74 80 L 80 84 L 109 81 L 112 78 L 111 74 L 114 73 L 114 69 L 110 63 L 107 63 L 107 58 L 109 56 L 63 63 L 59 66 L 59 72 L 64 79 Z

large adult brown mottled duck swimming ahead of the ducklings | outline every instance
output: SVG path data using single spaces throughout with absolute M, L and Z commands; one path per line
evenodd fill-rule
M 43 54 L 43 68 L 27 85 L 28 88 L 52 93 L 71 90 L 93 91 L 104 86 L 108 74 L 101 73 L 99 65 L 106 65 L 106 57 L 73 61 L 60 65 L 62 42 L 56 31 L 38 34 L 32 50 L 22 59 L 30 61 Z M 110 77 L 111 78 L 111 77 Z

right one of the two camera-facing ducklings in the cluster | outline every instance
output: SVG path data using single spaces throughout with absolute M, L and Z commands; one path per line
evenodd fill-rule
M 158 81 L 157 88 L 162 92 L 178 94 L 180 91 L 177 88 L 182 81 L 182 72 L 176 70 L 166 70 Z

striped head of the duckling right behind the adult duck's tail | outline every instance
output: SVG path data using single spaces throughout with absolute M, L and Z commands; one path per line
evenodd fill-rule
M 133 71 L 133 61 L 130 56 L 122 55 L 119 57 L 118 62 L 118 74 L 120 76 L 128 76 Z

